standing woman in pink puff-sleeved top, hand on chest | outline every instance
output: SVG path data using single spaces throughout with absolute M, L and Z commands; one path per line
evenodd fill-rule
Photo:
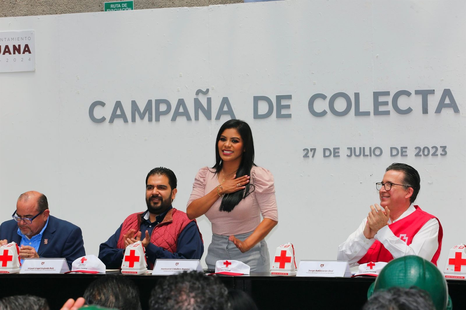
M 190 219 L 205 214 L 212 223 L 209 269 L 218 260 L 233 259 L 252 272 L 270 270 L 264 237 L 278 222 L 274 176 L 254 164 L 253 134 L 245 121 L 230 120 L 220 127 L 215 165 L 199 169 L 186 214 Z

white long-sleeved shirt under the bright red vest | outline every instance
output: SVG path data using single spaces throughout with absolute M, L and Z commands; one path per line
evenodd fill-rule
M 409 216 L 415 210 L 416 208 L 411 205 L 393 222 Z M 363 234 L 366 222 L 367 218 L 364 218 L 358 229 L 338 246 L 337 259 L 339 261 L 348 261 L 350 267 L 359 265 L 357 262 L 367 253 L 367 250 L 376 240 L 384 245 L 393 258 L 417 255 L 431 261 L 439 247 L 439 221 L 435 218 L 431 218 L 419 229 L 418 233 L 412 238 L 410 245 L 406 245 L 404 240 L 395 236 L 388 225 L 379 229 L 374 238 L 367 239 Z M 391 224 L 390 219 L 388 223 Z

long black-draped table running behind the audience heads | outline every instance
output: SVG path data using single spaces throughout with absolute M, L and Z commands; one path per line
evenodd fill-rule
M 59 274 L 0 275 L 1 297 L 32 294 L 47 298 L 50 309 L 60 309 L 68 298 L 81 297 L 92 281 L 103 275 Z M 148 307 L 151 290 L 164 276 L 132 276 L 141 296 L 144 309 Z M 250 294 L 259 309 L 361 309 L 367 290 L 374 278 L 279 277 L 268 273 L 250 276 L 218 276 L 228 288 Z M 466 281 L 447 280 L 453 309 L 466 309 Z M 291 299 L 286 299 L 290 297 Z

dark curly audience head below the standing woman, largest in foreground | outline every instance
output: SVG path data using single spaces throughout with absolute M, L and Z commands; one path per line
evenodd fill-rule
M 182 272 L 159 281 L 151 292 L 150 310 L 228 310 L 228 290 L 214 276 Z

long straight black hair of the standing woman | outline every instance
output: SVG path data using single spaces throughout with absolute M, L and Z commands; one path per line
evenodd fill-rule
M 253 133 L 251 128 L 245 121 L 241 120 L 229 120 L 226 121 L 219 129 L 219 133 L 217 134 L 217 139 L 215 140 L 215 165 L 212 169 L 215 169 L 215 174 L 218 175 L 223 167 L 223 161 L 219 154 L 219 140 L 220 135 L 225 131 L 225 129 L 234 128 L 238 131 L 243 140 L 243 155 L 241 157 L 240 167 L 236 171 L 236 177 L 240 177 L 243 175 L 250 175 L 251 168 L 256 166 L 254 164 L 254 141 L 253 141 Z M 234 207 L 238 203 L 240 203 L 241 199 L 247 197 L 247 195 L 251 194 L 254 191 L 254 185 L 251 182 L 246 184 L 246 188 L 243 190 L 239 190 L 237 192 L 231 194 L 225 194 L 222 198 L 222 202 L 220 203 L 219 211 L 226 211 L 231 212 Z

